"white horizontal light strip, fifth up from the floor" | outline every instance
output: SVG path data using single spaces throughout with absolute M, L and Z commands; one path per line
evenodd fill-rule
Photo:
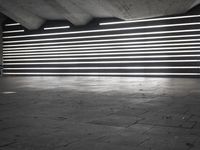
M 3 56 L 3 58 L 39 58 L 39 57 L 71 57 L 71 56 L 104 56 L 104 55 L 137 55 L 137 54 L 162 54 L 162 53 L 198 53 L 200 50 L 179 51 L 151 51 L 151 52 L 116 52 L 116 53 L 89 53 L 89 54 L 57 54 L 56 55 L 28 55 L 28 56 Z

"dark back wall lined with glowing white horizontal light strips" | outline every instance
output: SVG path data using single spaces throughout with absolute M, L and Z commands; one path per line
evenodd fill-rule
M 46 26 L 60 25 L 66 24 Z M 4 31 L 22 29 L 4 27 Z M 199 37 L 199 16 L 5 33 L 4 72 L 199 77 Z

